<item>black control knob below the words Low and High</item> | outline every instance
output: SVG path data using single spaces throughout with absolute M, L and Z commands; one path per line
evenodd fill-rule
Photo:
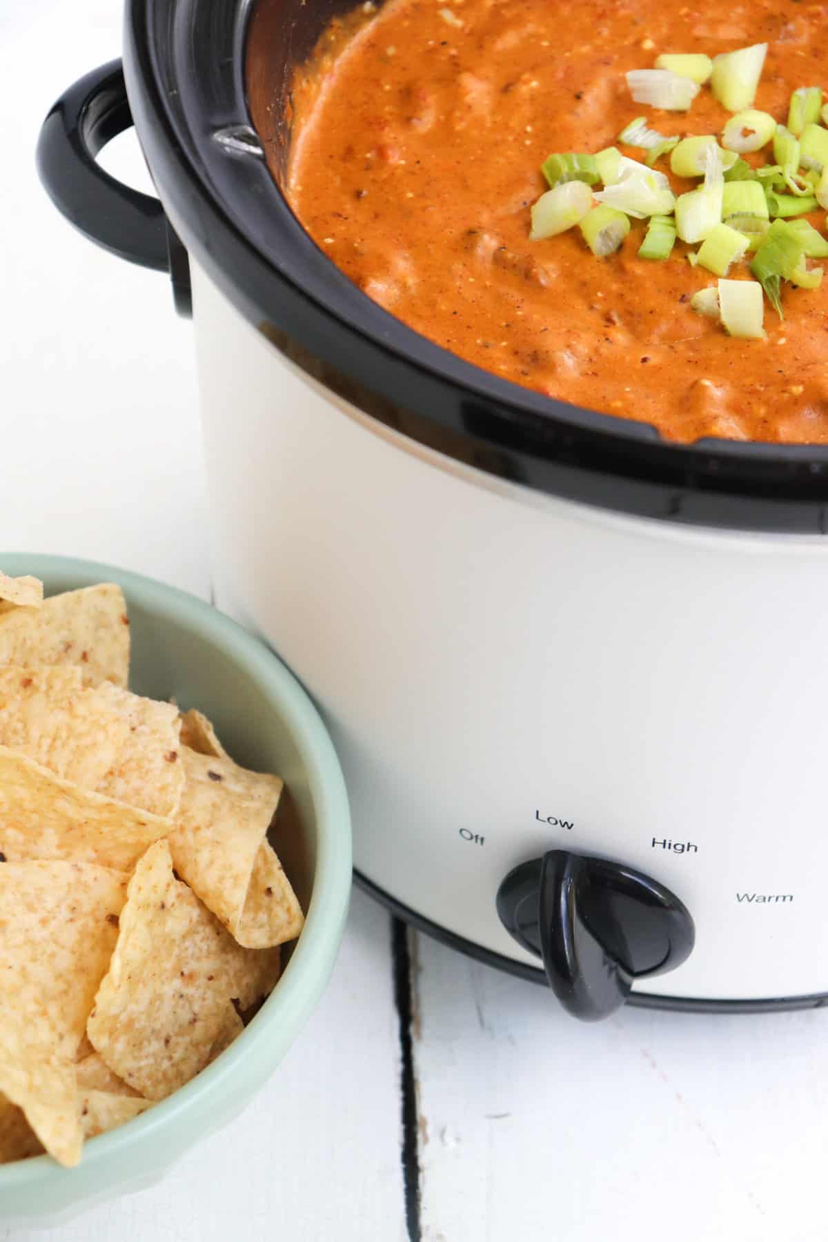
M 509 872 L 497 897 L 506 930 L 544 960 L 570 1013 L 608 1017 L 633 982 L 680 966 L 695 929 L 674 893 L 606 858 L 550 850 Z

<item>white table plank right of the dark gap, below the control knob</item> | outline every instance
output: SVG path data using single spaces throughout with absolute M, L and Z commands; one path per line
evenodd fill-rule
M 423 1242 L 824 1242 L 828 1013 L 626 1009 L 418 938 Z

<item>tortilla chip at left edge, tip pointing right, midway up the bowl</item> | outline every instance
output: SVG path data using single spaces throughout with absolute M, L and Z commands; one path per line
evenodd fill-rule
M 0 746 L 0 854 L 7 862 L 62 858 L 129 872 L 170 827 Z

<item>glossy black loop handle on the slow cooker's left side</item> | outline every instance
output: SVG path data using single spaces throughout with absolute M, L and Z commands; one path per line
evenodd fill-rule
M 158 199 L 117 181 L 96 161 L 133 124 L 120 61 L 92 70 L 52 104 L 37 140 L 37 171 L 57 210 L 113 255 L 170 272 L 176 309 L 191 308 L 186 251 Z

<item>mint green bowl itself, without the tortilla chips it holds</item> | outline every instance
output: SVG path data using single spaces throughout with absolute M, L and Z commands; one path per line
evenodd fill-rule
M 273 843 L 307 922 L 282 977 L 235 1043 L 192 1082 L 109 1134 L 77 1169 L 48 1156 L 0 1165 L 0 1225 L 53 1225 L 158 1181 L 200 1139 L 237 1117 L 302 1030 L 330 976 L 351 884 L 351 832 L 339 761 L 317 709 L 284 664 L 210 605 L 149 578 L 62 556 L 2 555 L 48 595 L 118 582 L 133 643 L 130 688 L 199 707 L 246 766 L 284 779 Z

